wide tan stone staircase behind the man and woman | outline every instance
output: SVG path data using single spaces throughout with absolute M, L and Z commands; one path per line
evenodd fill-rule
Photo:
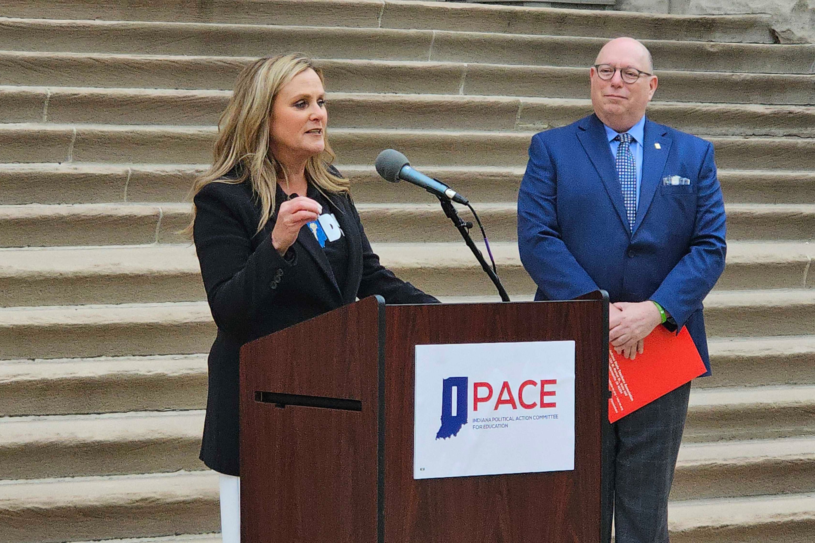
M 338 166 L 399 276 L 497 300 L 438 203 L 378 178 L 389 147 L 474 201 L 529 299 L 526 148 L 591 110 L 586 66 L 621 33 L 654 53 L 650 117 L 714 143 L 729 215 L 672 541 L 815 541 L 815 46 L 773 45 L 761 16 L 447 2 L 11 0 L 0 15 L 0 541 L 220 541 L 217 475 L 197 460 L 214 324 L 177 232 L 242 66 L 320 59 Z

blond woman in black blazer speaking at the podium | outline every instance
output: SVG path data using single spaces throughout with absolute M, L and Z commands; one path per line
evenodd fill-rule
M 218 123 L 192 188 L 192 232 L 218 335 L 200 458 L 221 478 L 223 541 L 240 541 L 240 347 L 356 298 L 438 302 L 379 263 L 331 166 L 323 75 L 303 55 L 257 60 Z M 319 360 L 319 340 L 314 360 Z

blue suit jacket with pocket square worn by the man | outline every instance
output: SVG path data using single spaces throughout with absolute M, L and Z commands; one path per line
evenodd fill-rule
M 654 145 L 659 144 L 659 149 Z M 633 232 L 606 132 L 596 115 L 532 138 L 518 193 L 518 248 L 535 299 L 604 289 L 611 302 L 651 299 L 686 326 L 710 373 L 702 302 L 725 269 L 725 205 L 711 143 L 645 122 Z M 680 175 L 689 185 L 663 185 Z

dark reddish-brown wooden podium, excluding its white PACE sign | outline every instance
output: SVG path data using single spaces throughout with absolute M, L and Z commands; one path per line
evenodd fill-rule
M 414 347 L 575 341 L 575 470 L 413 479 Z M 597 543 L 608 298 L 365 298 L 240 356 L 245 543 Z M 544 452 L 542 452 L 543 454 Z

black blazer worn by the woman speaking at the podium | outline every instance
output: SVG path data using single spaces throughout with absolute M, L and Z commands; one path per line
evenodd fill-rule
M 310 186 L 309 194 L 315 190 Z M 342 289 L 307 227 L 302 227 L 286 258 L 271 245 L 274 217 L 255 233 L 261 210 L 249 183 L 209 183 L 195 196 L 193 236 L 209 308 L 218 325 L 209 351 L 200 452 L 200 459 L 213 470 L 240 475 L 238 380 L 244 343 L 372 294 L 381 294 L 387 303 L 438 302 L 381 266 L 350 196 L 329 196 L 348 247 Z M 278 206 L 285 197 L 278 188 Z

